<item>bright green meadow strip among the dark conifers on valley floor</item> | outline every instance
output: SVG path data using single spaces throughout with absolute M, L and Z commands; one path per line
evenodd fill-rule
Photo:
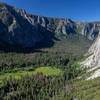
M 21 76 L 25 75 L 36 75 L 38 73 L 43 73 L 46 76 L 58 76 L 62 73 L 62 70 L 57 68 L 51 67 L 40 67 L 33 71 L 19 71 L 19 72 L 12 72 L 12 73 L 4 73 L 0 75 L 0 84 L 2 83 L 3 79 L 9 79 L 11 76 L 15 77 L 16 79 L 20 79 Z

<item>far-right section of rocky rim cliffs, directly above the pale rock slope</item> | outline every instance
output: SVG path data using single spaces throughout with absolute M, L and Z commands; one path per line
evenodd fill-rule
M 94 40 L 100 30 L 100 23 L 76 23 L 78 33 L 87 36 L 89 40 Z

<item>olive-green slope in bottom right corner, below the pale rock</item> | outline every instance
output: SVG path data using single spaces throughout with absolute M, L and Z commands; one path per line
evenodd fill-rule
M 100 100 L 100 77 L 92 80 L 75 80 L 70 91 L 63 90 L 55 96 L 55 100 L 71 100 L 71 98 Z

